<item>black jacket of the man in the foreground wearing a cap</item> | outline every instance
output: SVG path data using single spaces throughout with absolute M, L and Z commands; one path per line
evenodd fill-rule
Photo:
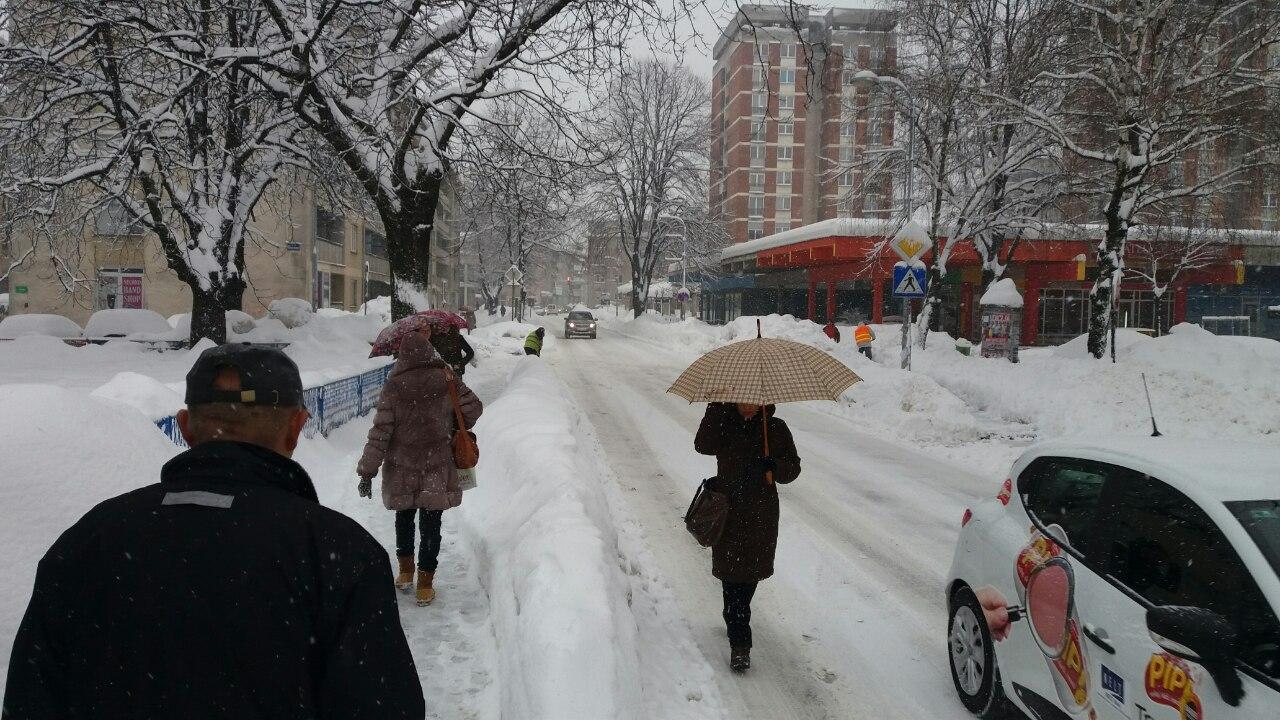
M 87 479 L 91 480 L 91 479 Z M 4 717 L 425 715 L 390 562 L 297 462 L 210 442 L 40 561 Z

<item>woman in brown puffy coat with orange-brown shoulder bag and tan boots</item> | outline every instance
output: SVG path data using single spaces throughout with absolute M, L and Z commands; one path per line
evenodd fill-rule
M 451 392 L 451 386 L 453 391 Z M 453 459 L 453 392 L 467 428 L 480 419 L 480 398 L 454 375 L 431 346 L 430 325 L 401 341 L 396 366 L 387 378 L 374 427 L 360 457 L 357 489 L 372 497 L 372 479 L 383 473 L 383 505 L 396 512 L 396 587 L 413 588 L 413 525 L 421 533 L 417 548 L 419 605 L 435 600 L 435 570 L 440 555 L 444 511 L 462 503 L 462 487 Z

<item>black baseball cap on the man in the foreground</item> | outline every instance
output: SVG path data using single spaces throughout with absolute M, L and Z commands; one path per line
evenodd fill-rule
M 239 373 L 239 389 L 214 388 L 214 378 L 223 368 Z M 274 347 L 248 343 L 210 347 L 187 373 L 187 405 L 206 402 L 302 407 L 302 375 L 297 364 Z

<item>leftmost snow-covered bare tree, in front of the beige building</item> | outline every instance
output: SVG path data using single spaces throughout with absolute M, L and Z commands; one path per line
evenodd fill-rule
M 292 110 L 227 60 L 270 35 L 256 1 L 8 6 L 0 172 L 28 202 L 6 220 L 23 223 L 32 252 L 46 245 L 68 290 L 86 284 L 84 225 L 154 233 L 191 288 L 191 340 L 224 342 L 253 210 L 308 155 Z

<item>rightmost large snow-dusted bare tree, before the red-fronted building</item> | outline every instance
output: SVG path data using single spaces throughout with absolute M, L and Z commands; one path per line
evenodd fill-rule
M 1038 77 L 1066 97 L 1050 113 L 1012 101 L 1074 159 L 1076 192 L 1106 231 L 1089 301 L 1089 352 L 1102 357 L 1125 273 L 1129 229 L 1178 200 L 1221 197 L 1275 143 L 1266 58 L 1280 42 L 1268 0 L 1066 0 L 1064 68 Z M 1165 182 L 1193 159 L 1197 172 Z

